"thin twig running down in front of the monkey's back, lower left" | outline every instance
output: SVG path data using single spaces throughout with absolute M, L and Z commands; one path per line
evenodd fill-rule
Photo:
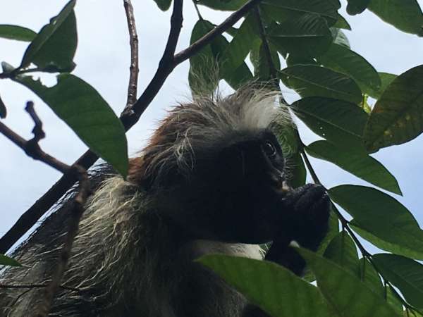
M 51 281 L 44 290 L 44 299 L 39 303 L 37 309 L 35 310 L 35 316 L 37 317 L 47 317 L 49 315 L 54 294 L 56 294 L 61 285 L 61 279 L 63 278 L 63 274 L 68 266 L 68 260 L 71 257 L 73 240 L 75 240 L 80 218 L 82 217 L 82 213 L 84 213 L 84 204 L 91 194 L 90 180 L 87 175 L 87 170 L 80 166 L 75 166 L 75 169 L 78 170 L 79 185 L 78 194 L 73 201 L 74 205 L 71 218 L 69 219 L 68 233 L 66 234 L 65 242 L 63 243 L 63 247 L 61 249 L 56 271 L 53 273 Z

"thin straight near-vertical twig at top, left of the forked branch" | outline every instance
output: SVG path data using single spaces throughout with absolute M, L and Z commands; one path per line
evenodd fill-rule
M 130 72 L 128 84 L 128 99 L 125 108 L 130 108 L 137 101 L 138 87 L 138 35 L 135 27 L 135 16 L 133 5 L 130 0 L 123 0 L 125 7 L 126 21 L 128 22 L 129 44 L 130 44 Z

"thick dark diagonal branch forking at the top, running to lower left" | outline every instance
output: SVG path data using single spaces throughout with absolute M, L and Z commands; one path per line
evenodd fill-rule
M 125 126 L 125 130 L 129 130 L 135 123 L 137 123 L 137 120 L 157 95 L 159 89 L 161 89 L 164 81 L 173 68 L 183 61 L 186 61 L 188 58 L 196 54 L 197 51 L 202 49 L 202 47 L 209 44 L 215 37 L 221 35 L 223 32 L 232 27 L 240 18 L 243 17 L 243 15 L 245 15 L 245 13 L 257 5 L 259 1 L 260 0 L 250 0 L 247 4 L 245 4 L 245 6 L 223 21 L 221 25 L 214 28 L 214 30 L 210 31 L 207 35 L 202 37 L 202 39 L 199 39 L 187 49 L 180 51 L 180 53 L 176 54 L 173 58 L 172 56 L 168 56 L 170 55 L 168 53 L 171 52 L 171 54 L 174 54 L 180 27 L 182 27 L 182 0 L 175 0 L 173 3 L 172 14 L 172 17 L 174 16 L 175 18 L 171 20 L 171 32 L 165 49 L 166 54 L 164 54 L 164 56 L 166 55 L 166 58 L 161 59 L 156 74 L 142 93 L 141 97 L 135 102 L 132 111 L 123 111 L 121 114 L 121 120 Z M 173 26 L 173 23 L 175 23 L 175 26 Z M 170 61 L 172 63 L 169 63 Z M 86 151 L 85 154 L 82 154 L 82 156 L 80 156 L 73 165 L 82 166 L 87 169 L 90 168 L 97 159 L 98 156 L 92 151 Z M 25 232 L 27 232 L 27 230 L 32 228 L 32 225 L 34 225 L 39 218 L 44 215 L 44 213 L 54 206 L 56 201 L 66 194 L 77 180 L 78 178 L 74 173 L 65 173 L 42 197 L 35 201 L 35 204 L 33 204 L 30 209 L 27 209 L 13 227 L 8 230 L 3 237 L 1 237 L 0 253 L 6 253 L 6 251 L 8 251 L 8 249 L 10 249 L 12 245 L 25 234 Z

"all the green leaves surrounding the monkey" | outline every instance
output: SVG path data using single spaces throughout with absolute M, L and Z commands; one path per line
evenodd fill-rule
M 162 11 L 172 4 L 154 1 Z M 194 0 L 193 5 L 200 13 L 203 6 L 236 11 L 246 3 Z M 39 32 L 0 25 L 0 37 L 29 42 L 19 66 L 2 63 L 0 78 L 35 92 L 82 142 L 125 177 L 128 154 L 121 120 L 93 87 L 71 74 L 78 39 L 74 6 L 75 0 L 69 1 Z M 353 220 L 345 220 L 333 205 L 328 240 L 315 254 L 298 249 L 312 272 L 305 279 L 265 261 L 228 256 L 200 261 L 275 317 L 422 316 L 423 266 L 416 260 L 423 260 L 423 231 L 405 206 L 380 190 L 402 194 L 394 175 L 371 154 L 423 132 L 423 65 L 396 75 L 378 72 L 350 47 L 343 32 L 350 25 L 340 8 L 338 0 L 262 0 L 238 28 L 227 28 L 226 34 L 190 57 L 188 79 L 193 93 L 212 92 L 221 80 L 233 89 L 251 80 L 272 88 L 283 83 L 300 95 L 290 108 L 322 138 L 306 145 L 295 132 L 279 135 L 293 149 L 291 183 L 305 183 L 306 167 L 318 181 L 309 155 L 374 187 L 329 189 L 331 199 Z M 423 14 L 415 0 L 348 0 L 346 9 L 350 15 L 372 11 L 400 31 L 422 35 Z M 215 27 L 199 14 L 191 44 Z M 219 73 L 210 75 L 216 68 Z M 58 81 L 44 87 L 32 79 L 33 71 L 56 73 Z M 369 97 L 376 99 L 374 106 L 367 103 Z M 0 118 L 6 114 L 0 100 Z M 386 253 L 369 254 L 362 240 Z M 0 256 L 0 264 L 18 265 L 6 256 Z M 309 283 L 314 279 L 317 286 Z

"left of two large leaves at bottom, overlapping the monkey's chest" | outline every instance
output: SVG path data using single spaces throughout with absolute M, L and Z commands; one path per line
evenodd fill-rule
M 198 261 L 273 317 L 334 317 L 317 287 L 275 263 L 223 255 Z

